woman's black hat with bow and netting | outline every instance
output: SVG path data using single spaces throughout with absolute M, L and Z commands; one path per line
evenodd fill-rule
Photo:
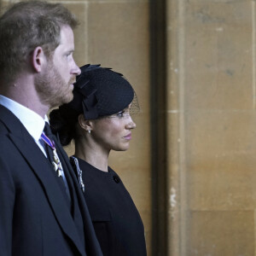
M 127 108 L 135 92 L 121 73 L 100 65 L 84 65 L 73 89 L 73 101 L 67 103 L 85 119 L 97 119 Z

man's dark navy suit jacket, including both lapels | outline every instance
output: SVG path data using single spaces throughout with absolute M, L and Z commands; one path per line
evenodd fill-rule
M 68 169 L 82 227 L 75 224 L 41 149 L 20 120 L 0 105 L 0 255 L 102 256 L 67 154 L 60 145 L 56 148 Z M 85 238 L 79 236 L 79 229 L 84 230 Z

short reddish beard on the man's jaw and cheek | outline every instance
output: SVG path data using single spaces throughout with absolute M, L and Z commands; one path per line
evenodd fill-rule
M 35 87 L 40 101 L 49 108 L 54 108 L 73 100 L 70 84 L 74 82 L 75 77 L 66 83 L 53 63 L 49 61 L 46 71 L 36 77 Z

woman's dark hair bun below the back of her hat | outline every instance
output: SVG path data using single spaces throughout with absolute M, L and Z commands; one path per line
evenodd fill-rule
M 49 124 L 52 132 L 60 138 L 61 145 L 67 146 L 76 137 L 76 125 L 79 112 L 66 105 L 49 113 Z

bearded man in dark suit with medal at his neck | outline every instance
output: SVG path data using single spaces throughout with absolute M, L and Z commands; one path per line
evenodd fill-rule
M 45 124 L 73 99 L 77 20 L 61 4 L 0 17 L 0 255 L 102 256 L 78 178 Z

